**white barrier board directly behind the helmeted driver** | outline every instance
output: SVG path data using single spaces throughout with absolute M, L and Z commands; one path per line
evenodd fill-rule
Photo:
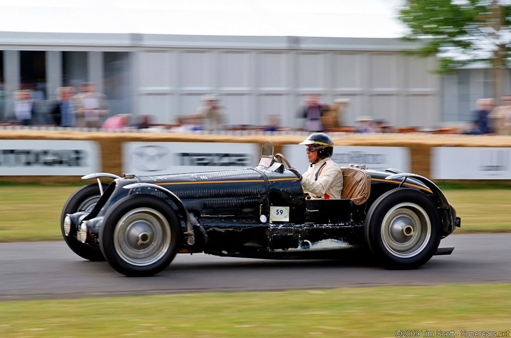
M 283 148 L 291 166 L 300 172 L 310 165 L 304 145 L 286 145 Z M 368 169 L 394 168 L 410 172 L 410 151 L 406 147 L 334 146 L 332 160 L 339 166 L 365 164 Z

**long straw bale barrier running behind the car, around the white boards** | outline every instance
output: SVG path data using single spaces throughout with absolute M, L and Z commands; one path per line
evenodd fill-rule
M 432 147 L 511 147 L 511 137 L 454 136 L 449 134 L 330 134 L 335 145 L 408 147 L 411 171 L 430 177 Z M 124 142 L 220 142 L 258 143 L 271 141 L 275 153 L 282 152 L 286 144 L 298 144 L 304 136 L 292 134 L 249 136 L 212 135 L 198 133 L 145 133 L 145 132 L 85 132 L 67 130 L 0 130 L 2 140 L 86 140 L 97 141 L 101 149 L 102 171 L 122 173 L 122 144 Z M 1 148 L 1 147 L 0 147 Z M 284 154 L 285 155 L 285 154 Z M 399 169 L 399 168 L 396 168 Z M 77 176 L 0 176 L 3 182 L 18 183 L 79 183 Z

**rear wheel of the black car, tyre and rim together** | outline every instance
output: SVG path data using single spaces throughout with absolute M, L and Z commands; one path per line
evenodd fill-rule
M 408 188 L 381 195 L 365 219 L 369 249 L 392 269 L 414 269 L 426 263 L 438 248 L 441 230 L 431 199 Z

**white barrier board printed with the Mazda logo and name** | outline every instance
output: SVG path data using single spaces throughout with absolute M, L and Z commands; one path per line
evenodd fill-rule
M 126 142 L 123 172 L 143 176 L 253 168 L 260 155 L 260 145 L 252 143 Z

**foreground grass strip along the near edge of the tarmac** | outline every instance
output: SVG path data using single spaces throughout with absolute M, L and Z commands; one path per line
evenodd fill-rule
M 14 301 L 0 302 L 0 336 L 462 336 L 509 331 L 509 313 L 511 284 Z

